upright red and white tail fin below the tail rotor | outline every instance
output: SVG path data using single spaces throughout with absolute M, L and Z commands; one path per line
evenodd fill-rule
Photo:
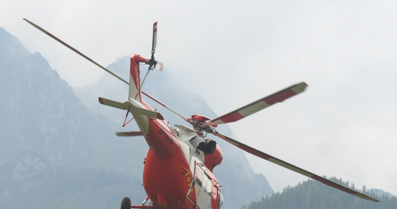
M 139 71 L 139 63 L 146 63 L 147 59 L 135 54 L 131 57 L 131 65 L 129 70 L 129 92 L 128 97 L 141 103 L 141 76 Z

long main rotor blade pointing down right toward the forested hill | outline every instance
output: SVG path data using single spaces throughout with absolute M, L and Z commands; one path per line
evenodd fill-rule
M 211 130 L 210 133 L 214 134 L 215 136 L 218 136 L 219 138 L 222 138 L 226 142 L 229 142 L 230 144 L 233 144 L 234 146 L 236 146 L 236 147 L 240 148 L 241 150 L 244 150 L 244 151 L 246 151 L 246 152 L 248 152 L 248 153 L 250 153 L 252 155 L 255 155 L 257 157 L 260 157 L 262 159 L 265 159 L 267 161 L 270 161 L 272 163 L 275 163 L 277 165 L 285 167 L 285 168 L 287 168 L 287 169 L 289 169 L 291 171 L 295 171 L 297 173 L 300 173 L 300 174 L 302 174 L 304 176 L 307 176 L 309 178 L 312 178 L 314 180 L 322 182 L 323 184 L 326 184 L 328 186 L 332 186 L 333 188 L 336 188 L 338 190 L 342 190 L 343 192 L 347 192 L 349 194 L 352 194 L 354 196 L 360 197 L 362 199 L 367 199 L 367 200 L 370 200 L 370 201 L 379 202 L 379 200 L 377 200 L 377 199 L 374 199 L 374 198 L 372 198 L 370 196 L 367 196 L 365 194 L 357 192 L 356 190 L 352 190 L 351 188 L 347 188 L 345 186 L 337 184 L 337 183 L 335 183 L 333 181 L 330 181 L 330 180 L 328 180 L 328 179 L 326 179 L 324 177 L 318 176 L 318 175 L 316 175 L 314 173 L 310 173 L 309 171 L 306 171 L 306 170 L 301 169 L 301 168 L 299 168 L 299 167 L 297 167 L 295 165 L 292 165 L 290 163 L 282 161 L 282 160 L 280 160 L 280 159 L 278 159 L 276 157 L 273 157 L 272 155 L 268 155 L 268 154 L 266 154 L 266 153 L 264 153 L 262 151 L 256 150 L 255 148 L 252 148 L 252 147 L 250 147 L 250 146 L 248 146 L 246 144 L 238 142 L 238 141 L 236 141 L 236 140 L 234 140 L 234 139 L 232 139 L 230 137 L 227 137 L 227 136 L 225 136 L 225 135 L 221 134 L 220 132 L 217 132 L 217 131 L 215 131 L 213 129 L 210 129 L 210 130 Z

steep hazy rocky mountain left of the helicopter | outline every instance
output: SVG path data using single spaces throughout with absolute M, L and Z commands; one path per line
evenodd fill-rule
M 1 27 L 0 97 L 2 207 L 109 208 L 126 194 L 145 198 L 146 151 L 138 147 L 146 143 L 116 137 L 109 119 L 91 113 L 39 53 Z

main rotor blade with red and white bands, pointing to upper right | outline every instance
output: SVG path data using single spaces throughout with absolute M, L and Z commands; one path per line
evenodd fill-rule
M 210 126 L 238 121 L 244 117 L 256 113 L 257 111 L 269 107 L 270 105 L 276 104 L 277 102 L 283 102 L 287 98 L 303 92 L 306 87 L 307 84 L 305 82 L 295 84 L 270 96 L 266 96 L 260 100 L 252 102 L 251 104 L 245 105 L 244 107 L 240 107 L 239 109 L 226 113 L 225 115 L 221 115 L 210 121 L 207 121 L 206 124 Z

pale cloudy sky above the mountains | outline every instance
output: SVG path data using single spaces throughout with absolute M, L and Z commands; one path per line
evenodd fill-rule
M 158 21 L 162 73 L 218 115 L 304 81 L 304 93 L 231 123 L 235 139 L 397 195 L 395 11 L 396 1 L 5 0 L 0 27 L 71 86 L 85 86 L 104 71 L 23 17 L 104 66 L 126 55 L 149 58 Z M 276 192 L 307 179 L 247 157 Z

